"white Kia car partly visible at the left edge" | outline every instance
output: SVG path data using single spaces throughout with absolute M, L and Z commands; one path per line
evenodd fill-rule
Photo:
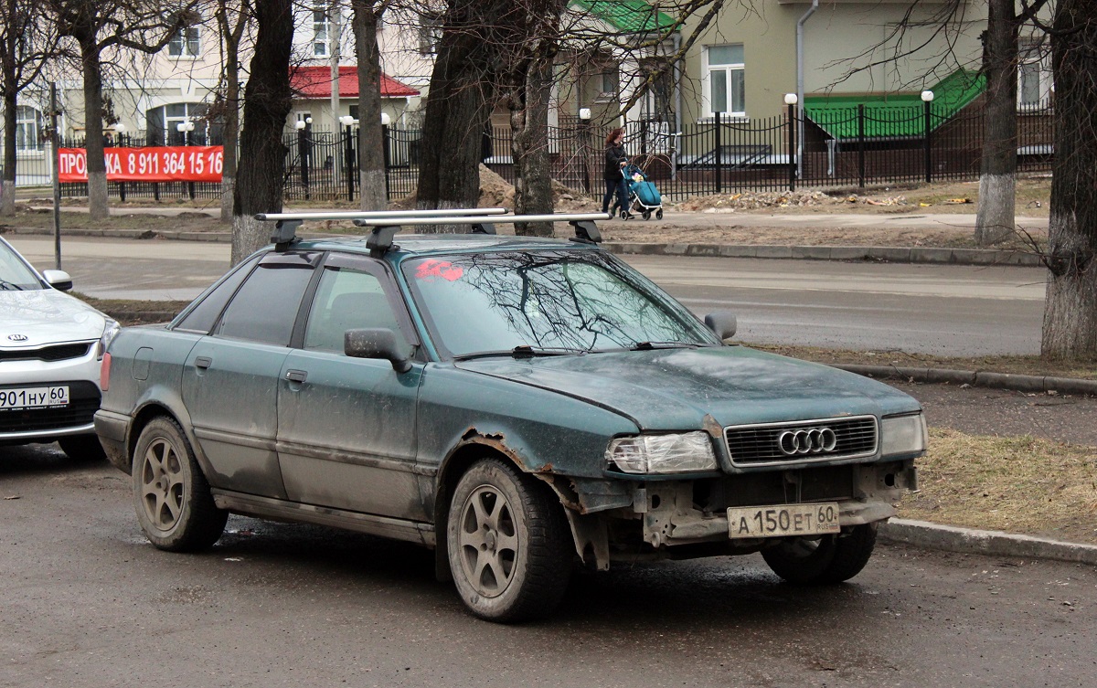
M 57 442 L 94 459 L 100 366 L 118 323 L 70 288 L 67 273 L 39 274 L 0 238 L 0 445 Z

